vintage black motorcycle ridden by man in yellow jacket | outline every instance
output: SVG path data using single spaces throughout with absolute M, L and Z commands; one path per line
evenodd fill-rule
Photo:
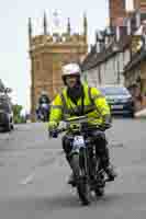
M 56 130 L 54 137 L 58 134 L 67 131 L 71 134 L 71 168 L 75 175 L 74 187 L 77 188 L 79 199 L 82 205 L 91 203 L 91 192 L 94 192 L 97 198 L 103 196 L 105 182 L 105 173 L 101 166 L 100 158 L 96 155 L 96 145 L 90 134 L 93 130 L 103 130 L 97 125 L 89 125 L 87 116 L 78 116 L 66 119 L 66 128 Z

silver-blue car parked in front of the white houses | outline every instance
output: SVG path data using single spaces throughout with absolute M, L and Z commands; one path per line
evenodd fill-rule
M 122 85 L 104 85 L 99 88 L 105 95 L 112 114 L 128 115 L 134 117 L 134 102 L 131 93 Z

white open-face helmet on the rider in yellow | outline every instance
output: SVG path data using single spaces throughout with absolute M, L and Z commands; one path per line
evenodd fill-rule
M 63 66 L 61 69 L 61 77 L 65 79 L 67 76 L 79 76 L 80 77 L 81 70 L 78 64 L 67 64 Z

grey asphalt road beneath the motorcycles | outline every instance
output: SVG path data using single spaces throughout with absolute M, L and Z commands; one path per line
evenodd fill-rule
M 67 185 L 70 170 L 60 139 L 48 140 L 45 126 L 18 125 L 11 134 L 0 132 L 1 219 L 145 219 L 145 120 L 114 119 L 106 135 L 119 177 L 88 207 Z

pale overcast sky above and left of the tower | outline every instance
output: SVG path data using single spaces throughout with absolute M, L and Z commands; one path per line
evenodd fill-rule
M 88 43 L 94 43 L 94 32 L 108 24 L 108 0 L 4 0 L 0 7 L 0 79 L 12 88 L 12 102 L 30 110 L 31 59 L 29 55 L 27 20 L 32 19 L 33 35 L 43 33 L 46 12 L 48 31 L 53 31 L 53 13 L 59 12 L 60 26 L 70 18 L 71 28 L 82 31 L 82 16 L 87 13 Z

